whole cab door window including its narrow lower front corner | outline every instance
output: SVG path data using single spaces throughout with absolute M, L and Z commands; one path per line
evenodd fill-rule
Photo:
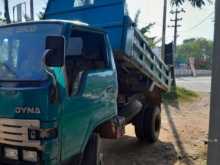
M 65 68 L 71 96 L 77 92 L 83 73 L 108 68 L 104 35 L 73 30 L 67 43 Z

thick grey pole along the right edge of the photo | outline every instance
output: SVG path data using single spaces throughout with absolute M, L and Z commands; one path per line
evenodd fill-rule
M 212 66 L 211 111 L 208 140 L 208 165 L 220 162 L 220 1 L 215 1 L 215 39 Z

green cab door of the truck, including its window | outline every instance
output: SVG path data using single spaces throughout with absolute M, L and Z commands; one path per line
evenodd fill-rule
M 72 30 L 67 45 L 62 160 L 82 153 L 98 124 L 117 114 L 117 74 L 105 35 Z

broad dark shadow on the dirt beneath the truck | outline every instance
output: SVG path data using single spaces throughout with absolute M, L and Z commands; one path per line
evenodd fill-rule
M 135 137 L 103 140 L 105 165 L 174 165 L 177 152 L 172 143 L 141 144 Z

